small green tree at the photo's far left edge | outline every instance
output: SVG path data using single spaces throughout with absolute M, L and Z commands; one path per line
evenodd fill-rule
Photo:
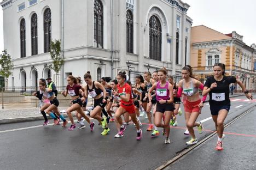
M 7 53 L 7 50 L 5 49 L 2 51 L 2 54 L 0 54 L 0 75 L 4 76 L 5 78 L 5 87 L 8 88 L 8 78 L 13 75 L 13 62 L 11 61 L 10 54 Z

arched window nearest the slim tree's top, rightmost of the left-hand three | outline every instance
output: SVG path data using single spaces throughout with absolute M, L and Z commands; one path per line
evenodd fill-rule
M 44 11 L 44 52 L 51 51 L 51 10 Z

